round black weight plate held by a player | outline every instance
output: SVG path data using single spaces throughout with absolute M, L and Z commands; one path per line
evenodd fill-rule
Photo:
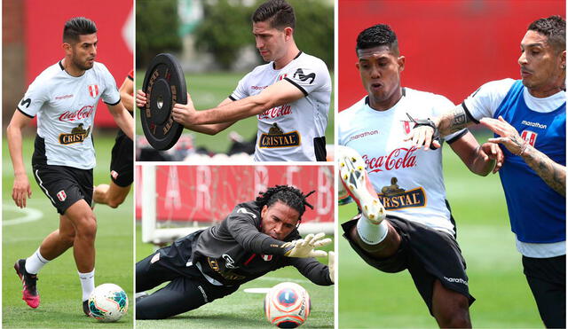
M 187 104 L 185 76 L 177 59 L 167 53 L 154 57 L 146 70 L 142 90 L 147 100 L 139 115 L 144 135 L 156 150 L 168 150 L 184 130 L 171 116 L 173 106 Z

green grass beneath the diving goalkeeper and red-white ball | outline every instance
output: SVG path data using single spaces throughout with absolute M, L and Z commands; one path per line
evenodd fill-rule
M 139 226 L 137 235 L 141 236 Z M 333 247 L 325 250 L 333 250 Z M 136 259 L 144 259 L 154 247 L 137 240 Z M 320 262 L 327 263 L 327 258 Z M 303 328 L 334 327 L 334 286 L 317 286 L 304 278 L 295 267 L 288 266 L 270 272 L 242 285 L 237 292 L 201 306 L 199 309 L 165 320 L 138 320 L 137 328 L 275 328 L 264 317 L 264 294 L 245 293 L 246 288 L 276 286 L 292 281 L 304 286 L 312 300 L 312 313 Z

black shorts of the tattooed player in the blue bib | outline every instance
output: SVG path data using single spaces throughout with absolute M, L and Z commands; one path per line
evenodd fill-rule
M 523 256 L 526 281 L 547 328 L 566 327 L 566 255 L 549 258 Z

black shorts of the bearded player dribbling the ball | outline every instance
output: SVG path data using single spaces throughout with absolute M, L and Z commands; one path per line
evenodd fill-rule
M 33 165 L 34 177 L 43 193 L 61 215 L 78 200 L 92 202 L 92 169 Z

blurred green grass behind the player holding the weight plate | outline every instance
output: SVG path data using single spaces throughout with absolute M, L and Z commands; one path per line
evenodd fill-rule
M 142 88 L 144 82 L 144 70 L 136 72 L 136 85 L 137 89 Z M 212 108 L 221 103 L 225 98 L 228 98 L 241 78 L 247 74 L 242 73 L 207 73 L 207 74 L 185 74 L 185 82 L 187 84 L 187 91 L 193 99 L 193 105 L 197 110 L 204 110 Z M 331 73 L 331 81 L 334 81 L 334 74 Z M 335 90 L 335 89 L 334 89 Z M 331 104 L 329 106 L 329 120 L 327 121 L 326 141 L 327 144 L 334 143 L 334 92 L 331 94 Z M 226 153 L 231 144 L 229 140 L 229 133 L 236 131 L 245 137 L 247 140 L 256 136 L 256 117 L 250 117 L 236 122 L 233 126 L 219 132 L 215 136 L 209 136 L 193 132 L 185 129 L 184 134 L 192 134 L 194 145 L 199 147 L 206 147 L 210 151 L 216 153 Z M 140 119 L 137 118 L 136 122 L 137 135 L 144 135 Z

